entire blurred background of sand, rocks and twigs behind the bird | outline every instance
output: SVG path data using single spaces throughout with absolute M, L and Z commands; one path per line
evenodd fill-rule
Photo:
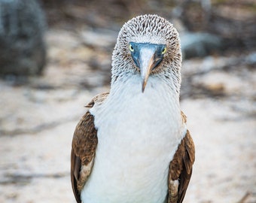
M 184 202 L 256 202 L 254 0 L 0 0 L 0 202 L 75 202 L 75 126 L 108 91 L 118 32 L 139 14 L 180 33 L 196 145 Z

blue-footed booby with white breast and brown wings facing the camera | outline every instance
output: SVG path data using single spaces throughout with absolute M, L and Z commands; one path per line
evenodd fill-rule
M 71 182 L 78 203 L 181 203 L 195 159 L 181 111 L 178 32 L 156 14 L 117 36 L 109 92 L 92 98 L 75 128 Z

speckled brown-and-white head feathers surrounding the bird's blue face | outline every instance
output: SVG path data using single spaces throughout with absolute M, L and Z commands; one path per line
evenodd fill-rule
M 129 43 L 166 44 L 166 54 L 163 61 L 151 74 L 160 75 L 163 80 L 169 80 L 179 93 L 181 85 L 181 47 L 177 30 L 163 17 L 157 15 L 142 15 L 134 17 L 120 29 L 117 44 L 112 55 L 112 80 L 123 80 L 129 74 L 139 74 L 139 69 L 133 62 Z

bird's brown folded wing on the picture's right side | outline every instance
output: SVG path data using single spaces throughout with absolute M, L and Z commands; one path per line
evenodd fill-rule
M 186 122 L 186 117 L 181 112 Z M 187 134 L 178 145 L 178 149 L 169 167 L 169 197 L 168 203 L 181 203 L 187 191 L 187 186 L 192 174 L 192 166 L 195 160 L 194 142 L 187 130 Z

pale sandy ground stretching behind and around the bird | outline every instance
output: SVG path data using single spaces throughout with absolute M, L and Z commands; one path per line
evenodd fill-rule
M 22 85 L 0 81 L 0 202 L 75 202 L 69 178 L 72 134 L 84 105 L 108 89 L 101 82 L 108 75 L 88 68 L 93 50 L 79 46 L 73 35 L 50 31 L 47 44 L 43 77 Z M 108 60 L 104 53 L 100 57 Z M 203 62 L 185 61 L 184 77 Z M 224 95 L 181 100 L 197 152 L 186 203 L 256 202 L 256 75 L 245 70 L 196 75 L 196 87 L 215 91 L 221 85 Z M 95 80 L 102 85 L 92 88 Z

